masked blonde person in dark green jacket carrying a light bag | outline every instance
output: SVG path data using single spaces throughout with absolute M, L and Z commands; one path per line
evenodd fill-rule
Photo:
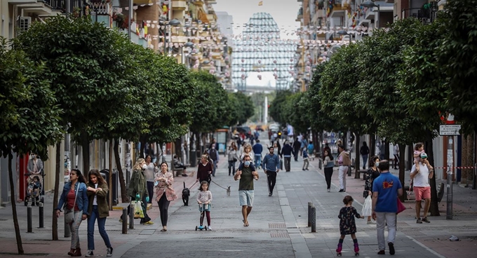
M 144 217 L 141 218 L 140 224 L 152 225 L 154 222 L 151 221 L 151 218 L 147 216 L 147 204 L 149 202 L 149 193 L 147 192 L 146 176 L 145 170 L 147 169 L 146 160 L 144 158 L 137 159 L 133 167 L 133 175 L 129 182 L 128 195 L 130 196 L 131 201 L 141 201 L 142 202 L 142 211 L 144 212 Z M 128 205 L 128 214 L 130 212 L 130 205 Z M 122 218 L 119 219 L 119 222 L 123 222 Z

